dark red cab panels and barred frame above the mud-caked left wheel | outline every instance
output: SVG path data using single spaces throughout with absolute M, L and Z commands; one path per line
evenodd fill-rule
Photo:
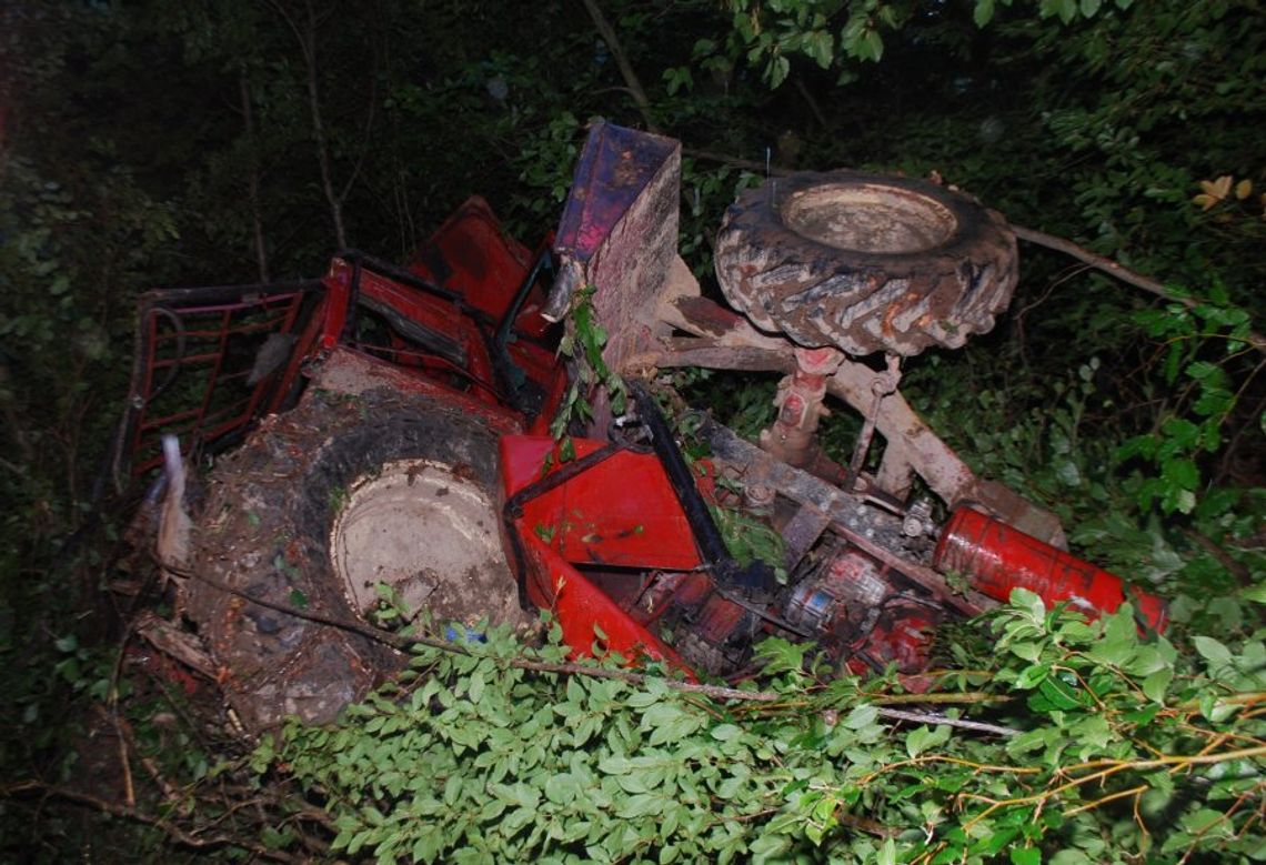
M 158 438 L 186 453 L 223 450 L 298 399 L 304 372 L 342 346 L 544 431 L 566 374 L 541 317 L 548 249 L 509 237 L 480 198 L 466 201 L 408 268 L 337 256 L 320 280 L 142 296 L 128 409 L 115 471 L 161 465 Z

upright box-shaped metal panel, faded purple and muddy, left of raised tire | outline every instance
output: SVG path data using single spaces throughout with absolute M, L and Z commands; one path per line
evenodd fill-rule
M 561 319 L 573 294 L 594 286 L 611 370 L 636 353 L 638 322 L 672 271 L 680 187 L 679 142 L 605 120 L 590 127 L 558 224 L 560 276 L 546 314 Z

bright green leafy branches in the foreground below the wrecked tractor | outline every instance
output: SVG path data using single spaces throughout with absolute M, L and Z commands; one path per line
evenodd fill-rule
M 770 640 L 747 699 L 560 675 L 566 647 L 494 633 L 419 648 L 346 723 L 294 724 L 252 759 L 319 798 L 333 850 L 377 861 L 1262 855 L 1260 636 L 1184 657 L 1128 608 L 1087 626 L 1023 591 L 987 631 L 996 651 L 952 646 L 970 666 L 913 697 L 818 679 L 812 651 Z

